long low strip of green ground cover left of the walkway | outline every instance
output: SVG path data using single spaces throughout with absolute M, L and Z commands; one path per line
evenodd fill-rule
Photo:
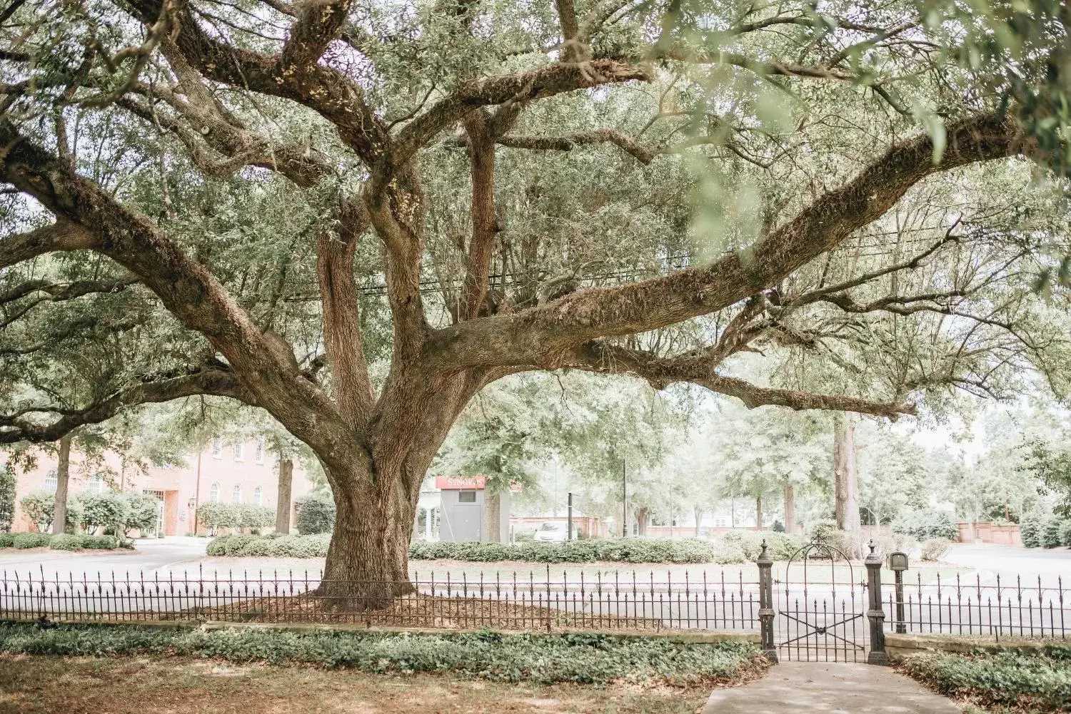
M 384 634 L 0 625 L 0 652 L 63 656 L 177 655 L 305 664 L 376 673 L 450 672 L 494 682 L 683 686 L 740 681 L 767 665 L 746 642 L 680 644 L 598 634 Z

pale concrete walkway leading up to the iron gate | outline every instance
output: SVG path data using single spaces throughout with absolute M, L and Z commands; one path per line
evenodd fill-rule
M 960 708 L 888 667 L 789 662 L 766 678 L 718 689 L 703 714 L 960 714 Z

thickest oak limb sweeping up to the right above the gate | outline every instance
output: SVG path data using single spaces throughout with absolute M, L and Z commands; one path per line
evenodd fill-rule
M 444 328 L 433 336 L 439 368 L 557 365 L 569 349 L 723 309 L 776 285 L 885 213 L 912 185 L 966 164 L 1014 156 L 1032 143 L 1008 117 L 986 113 L 948 126 L 939 161 L 929 136 L 903 141 L 765 239 L 707 267 L 642 283 L 574 292 L 547 305 Z

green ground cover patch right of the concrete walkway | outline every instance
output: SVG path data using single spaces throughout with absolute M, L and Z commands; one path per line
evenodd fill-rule
M 1071 645 L 1044 654 L 924 654 L 901 669 L 937 692 L 982 707 L 1071 712 Z

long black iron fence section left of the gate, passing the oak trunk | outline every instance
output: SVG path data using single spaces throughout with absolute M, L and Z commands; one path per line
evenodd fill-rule
M 410 587 L 411 586 L 411 587 Z M 402 592 L 387 607 L 362 593 Z M 350 593 L 340 595 L 340 593 Z M 380 605 L 380 603 L 377 603 Z M 321 574 L 0 575 L 0 619 L 224 621 L 502 629 L 756 629 L 757 583 L 722 571 L 570 576 L 416 573 L 408 582 Z

